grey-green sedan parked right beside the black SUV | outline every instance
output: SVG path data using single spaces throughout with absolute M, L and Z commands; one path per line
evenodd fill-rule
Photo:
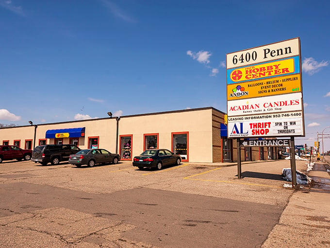
M 120 156 L 115 153 L 111 153 L 105 149 L 84 149 L 80 150 L 74 155 L 70 155 L 69 163 L 80 167 L 87 164 L 89 167 L 93 167 L 97 163 L 118 163 Z

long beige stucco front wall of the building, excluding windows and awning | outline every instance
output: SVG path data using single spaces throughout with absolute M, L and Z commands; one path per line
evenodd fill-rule
M 216 113 L 215 113 L 216 112 Z M 132 157 L 144 151 L 144 134 L 158 133 L 159 148 L 171 150 L 172 133 L 189 132 L 189 162 L 214 162 L 220 158 L 214 151 L 219 152 L 218 147 L 213 148 L 213 143 L 219 144 L 217 136 L 219 131 L 214 133 L 212 113 L 220 116 L 221 113 L 213 108 L 189 109 L 165 113 L 123 116 L 119 120 L 118 136 L 132 135 Z M 222 117 L 222 116 L 221 116 Z M 116 119 L 115 117 L 86 120 L 55 124 L 38 124 L 36 129 L 35 146 L 39 139 L 45 139 L 46 131 L 49 129 L 63 129 L 85 127 L 85 137 L 79 139 L 80 148 L 88 148 L 89 137 L 99 137 L 99 148 L 115 152 L 116 145 Z M 14 144 L 14 140 L 21 140 L 21 148 L 24 148 L 25 140 L 33 140 L 34 126 L 19 126 L 13 128 L 0 129 L 0 144 L 9 140 L 9 144 Z M 47 139 L 47 144 L 53 144 L 54 139 Z M 69 138 L 64 138 L 63 143 L 69 143 Z M 119 147 L 118 137 L 118 152 Z M 32 143 L 33 145 L 33 143 Z

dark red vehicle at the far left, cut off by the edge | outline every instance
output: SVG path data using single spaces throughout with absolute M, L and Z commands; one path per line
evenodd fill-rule
M 24 150 L 16 145 L 0 145 L 0 163 L 3 160 L 30 160 L 32 156 L 32 150 Z

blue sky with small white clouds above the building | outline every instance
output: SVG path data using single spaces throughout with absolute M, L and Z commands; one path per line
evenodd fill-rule
M 330 125 L 329 10 L 327 0 L 0 0 L 0 123 L 226 112 L 226 53 L 300 37 L 306 137 L 295 140 L 314 145 Z

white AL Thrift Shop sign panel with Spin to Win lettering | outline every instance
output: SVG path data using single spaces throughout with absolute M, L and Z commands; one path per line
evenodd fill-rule
M 228 138 L 288 137 L 303 135 L 301 118 L 228 122 Z

